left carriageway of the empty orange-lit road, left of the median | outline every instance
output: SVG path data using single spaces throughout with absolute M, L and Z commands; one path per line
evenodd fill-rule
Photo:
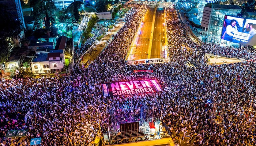
M 143 24 L 139 32 L 139 39 L 133 52 L 134 55 L 131 55 L 133 60 L 147 59 L 154 11 L 155 8 L 150 8 L 144 16 L 144 20 L 142 21 Z

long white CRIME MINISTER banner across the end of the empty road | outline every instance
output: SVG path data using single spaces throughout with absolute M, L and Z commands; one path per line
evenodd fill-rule
M 139 59 L 139 60 L 128 60 L 128 65 L 139 65 L 139 64 L 160 64 L 169 62 L 170 58 L 152 58 L 152 59 Z

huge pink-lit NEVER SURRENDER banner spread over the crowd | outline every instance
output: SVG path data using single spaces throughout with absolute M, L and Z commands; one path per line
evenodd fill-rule
M 155 80 L 124 81 L 102 84 L 103 96 L 132 95 L 136 93 L 160 92 Z

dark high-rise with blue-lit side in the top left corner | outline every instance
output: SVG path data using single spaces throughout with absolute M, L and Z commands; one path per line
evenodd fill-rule
M 0 4 L 4 4 L 7 7 L 7 11 L 12 15 L 15 21 L 20 22 L 20 28 L 26 28 L 20 0 L 0 0 Z

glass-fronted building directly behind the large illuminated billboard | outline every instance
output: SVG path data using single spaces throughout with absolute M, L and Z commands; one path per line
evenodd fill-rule
M 241 11 L 242 10 L 238 5 L 212 4 L 206 42 L 220 44 L 225 15 L 237 16 L 237 14 L 240 14 Z M 226 41 L 226 43 L 232 42 Z M 226 45 L 230 46 L 230 44 Z

